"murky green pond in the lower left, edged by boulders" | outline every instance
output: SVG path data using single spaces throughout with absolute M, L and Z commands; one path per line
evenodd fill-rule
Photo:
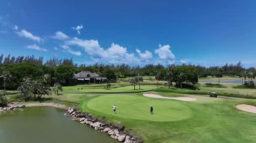
M 64 113 L 54 107 L 26 107 L 0 113 L 0 142 L 117 142 L 105 133 L 71 121 Z

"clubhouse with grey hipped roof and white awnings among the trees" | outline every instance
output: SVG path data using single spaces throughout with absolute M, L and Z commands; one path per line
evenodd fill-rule
M 91 84 L 91 83 L 106 83 L 106 77 L 100 77 L 97 73 L 90 71 L 82 71 L 74 74 L 75 83 L 77 85 Z

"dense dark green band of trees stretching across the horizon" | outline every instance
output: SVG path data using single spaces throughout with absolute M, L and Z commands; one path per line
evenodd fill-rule
M 55 83 L 70 85 L 73 73 L 80 71 L 91 71 L 106 77 L 109 81 L 116 81 L 124 77 L 149 76 L 156 77 L 158 81 L 177 83 L 179 87 L 183 83 L 197 83 L 198 77 L 222 77 L 223 75 L 239 76 L 244 81 L 255 78 L 255 68 L 243 68 L 241 62 L 238 64 L 226 64 L 224 66 L 196 66 L 196 65 L 169 65 L 147 64 L 145 66 L 130 66 L 128 64 L 93 64 L 77 65 L 72 59 L 51 58 L 43 62 L 43 58 L 34 56 L 0 56 L 0 89 L 17 89 L 25 78 L 40 80 L 44 75 L 51 76 L 49 85 Z M 11 81 L 11 82 L 9 82 Z M 133 83 L 136 83 L 133 82 Z

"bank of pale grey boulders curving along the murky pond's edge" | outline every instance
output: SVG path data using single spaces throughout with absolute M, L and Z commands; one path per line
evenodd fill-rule
M 65 109 L 67 113 L 65 113 L 64 115 L 68 115 L 72 118 L 73 121 L 80 122 L 84 125 L 88 125 L 94 128 L 94 130 L 97 130 L 98 132 L 106 132 L 106 134 L 108 134 L 110 138 L 118 140 L 119 142 L 143 143 L 143 140 L 141 140 L 139 137 L 125 131 L 125 126 L 120 124 L 111 124 L 106 121 L 106 117 L 94 117 L 90 113 L 78 111 L 77 107 L 66 107 L 65 105 L 56 103 L 10 103 L 7 107 L 0 107 L 0 113 L 6 111 L 13 111 L 18 108 L 38 106 Z

